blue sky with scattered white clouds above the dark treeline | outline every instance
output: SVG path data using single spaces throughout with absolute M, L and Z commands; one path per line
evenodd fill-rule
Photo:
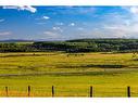
M 138 38 L 138 7 L 0 7 L 0 40 Z

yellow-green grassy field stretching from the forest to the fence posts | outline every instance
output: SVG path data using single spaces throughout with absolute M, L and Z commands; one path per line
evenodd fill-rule
M 138 61 L 133 53 L 0 53 L 0 96 L 138 96 Z

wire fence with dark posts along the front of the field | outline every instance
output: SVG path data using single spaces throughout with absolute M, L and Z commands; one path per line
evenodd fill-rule
M 126 88 L 100 88 L 88 87 L 87 89 L 77 89 L 77 87 L 33 87 L 14 88 L 2 87 L 0 88 L 0 96 L 87 96 L 87 98 L 130 98 L 138 96 L 137 87 Z

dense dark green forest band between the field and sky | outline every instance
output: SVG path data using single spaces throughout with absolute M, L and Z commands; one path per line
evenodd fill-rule
M 30 43 L 0 42 L 0 52 L 136 52 L 138 39 L 76 39 L 66 41 L 35 41 Z

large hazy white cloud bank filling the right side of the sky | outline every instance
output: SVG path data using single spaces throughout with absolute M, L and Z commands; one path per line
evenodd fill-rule
M 122 9 L 126 12 L 125 15 L 113 12 L 101 16 L 102 22 L 96 24 L 98 30 L 93 30 L 93 27 L 91 34 L 101 38 L 138 37 L 138 8 L 123 7 Z

